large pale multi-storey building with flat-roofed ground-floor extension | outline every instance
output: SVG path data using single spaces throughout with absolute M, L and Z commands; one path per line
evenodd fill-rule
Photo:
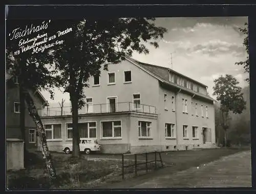
M 126 58 L 101 69 L 85 89 L 80 137 L 97 139 L 103 153 L 215 147 L 214 99 L 207 86 L 178 72 Z M 42 111 L 50 150 L 72 141 L 70 107 Z

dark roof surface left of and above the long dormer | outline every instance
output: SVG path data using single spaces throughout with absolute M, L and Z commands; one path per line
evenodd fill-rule
M 136 62 L 137 64 L 143 66 L 144 68 L 146 68 L 147 70 L 150 70 L 151 72 L 153 72 L 154 74 L 160 76 L 161 78 L 163 78 L 165 81 L 169 81 L 168 80 L 168 71 L 171 71 L 171 72 L 174 72 L 175 74 L 179 75 L 179 76 L 182 76 L 184 78 L 187 78 L 188 80 L 190 81 L 193 81 L 193 82 L 196 82 L 197 84 L 201 85 L 201 86 L 204 86 L 204 87 L 207 87 L 206 85 L 200 83 L 199 81 L 197 80 L 193 80 L 187 76 L 184 76 L 182 74 L 180 74 L 179 72 L 173 70 L 173 69 L 170 69 L 170 68 L 167 68 L 167 67 L 161 67 L 161 66 L 157 66 L 157 65 L 152 65 L 152 64 L 148 64 L 148 63 L 142 63 L 140 61 L 137 61 L 131 57 L 127 57 L 128 59 Z

